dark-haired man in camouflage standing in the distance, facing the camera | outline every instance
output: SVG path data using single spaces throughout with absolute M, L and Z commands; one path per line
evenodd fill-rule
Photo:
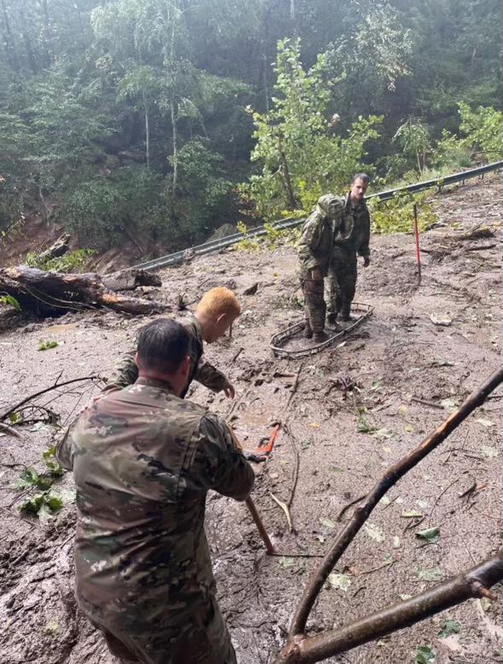
M 368 175 L 357 173 L 350 192 L 342 201 L 342 218 L 334 234 L 332 260 L 325 282 L 328 325 L 336 323 L 339 312 L 343 321 L 350 320 L 356 290 L 356 256 L 363 256 L 363 267 L 370 264 L 370 216 L 363 198 L 368 185 Z

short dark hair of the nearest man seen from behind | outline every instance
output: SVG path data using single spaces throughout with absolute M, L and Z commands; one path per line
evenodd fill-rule
M 161 373 L 177 371 L 189 350 L 189 333 L 170 318 L 157 318 L 138 333 L 138 367 Z

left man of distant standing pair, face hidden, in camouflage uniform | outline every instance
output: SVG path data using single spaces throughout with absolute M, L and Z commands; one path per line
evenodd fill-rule
M 334 235 L 341 213 L 342 200 L 333 194 L 325 194 L 318 199 L 316 210 L 304 222 L 300 236 L 299 276 L 306 315 L 304 336 L 317 342 L 327 339 L 323 280 L 332 260 Z

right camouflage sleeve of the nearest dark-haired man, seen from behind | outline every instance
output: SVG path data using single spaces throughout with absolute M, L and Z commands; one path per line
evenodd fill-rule
M 197 438 L 192 464 L 193 476 L 209 489 L 235 500 L 245 500 L 253 488 L 250 463 L 233 442 L 227 424 L 213 413 L 206 413 L 194 433 Z

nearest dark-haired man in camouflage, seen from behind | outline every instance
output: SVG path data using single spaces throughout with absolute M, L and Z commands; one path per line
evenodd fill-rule
M 76 484 L 78 603 L 124 662 L 236 664 L 205 499 L 244 500 L 254 475 L 225 422 L 181 398 L 189 343 L 180 323 L 146 325 L 136 382 L 98 396 L 56 448 Z

